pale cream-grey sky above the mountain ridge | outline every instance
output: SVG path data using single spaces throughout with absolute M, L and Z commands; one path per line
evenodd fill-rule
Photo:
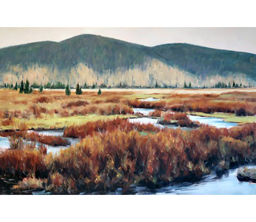
M 146 46 L 188 43 L 256 54 L 256 28 L 0 28 L 0 48 L 95 34 Z

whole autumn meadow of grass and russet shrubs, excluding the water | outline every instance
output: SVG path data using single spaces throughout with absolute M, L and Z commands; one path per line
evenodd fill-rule
M 10 143 L 9 149 L 0 149 L 0 175 L 16 179 L 12 192 L 79 194 L 132 184 L 154 188 L 256 161 L 255 89 L 97 91 L 67 96 L 61 90 L 27 95 L 0 90 L 0 136 Z M 163 127 L 131 123 L 143 117 L 135 108 L 154 109 L 149 116 L 159 118 Z M 187 114 L 232 119 L 239 126 L 210 127 Z M 171 124 L 178 128 L 165 127 Z M 46 129 L 64 134 L 37 132 Z M 79 142 L 71 146 L 68 138 Z M 67 148 L 53 154 L 48 146 Z

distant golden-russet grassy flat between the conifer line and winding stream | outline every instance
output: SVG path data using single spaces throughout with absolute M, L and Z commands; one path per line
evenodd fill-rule
M 66 96 L 62 90 L 20 94 L 0 90 L 0 129 L 65 127 L 88 120 L 133 115 L 133 107 L 173 110 L 193 115 L 224 118 L 227 122 L 255 121 L 256 90 L 245 89 L 97 89 L 84 90 L 82 95 Z M 139 99 L 157 98 L 157 102 Z M 125 117 L 125 118 L 126 118 Z

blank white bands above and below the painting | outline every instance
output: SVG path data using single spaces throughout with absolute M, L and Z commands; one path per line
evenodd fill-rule
M 255 27 L 243 0 L 16 0 L 0 3 L 1 27 Z M 0 196 L 1 221 L 245 221 L 248 196 Z M 253 219 L 253 218 L 252 218 Z

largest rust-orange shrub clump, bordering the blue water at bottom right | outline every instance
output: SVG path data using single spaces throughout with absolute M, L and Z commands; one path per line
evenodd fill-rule
M 212 170 L 255 162 L 255 126 L 246 126 L 251 131 L 242 139 L 232 135 L 244 127 L 230 131 L 209 126 L 194 131 L 164 129 L 147 136 L 116 129 L 87 136 L 76 147 L 61 151 L 53 162 L 59 174 L 73 181 L 74 190 L 114 190 L 135 181 L 150 187 L 193 181 Z

